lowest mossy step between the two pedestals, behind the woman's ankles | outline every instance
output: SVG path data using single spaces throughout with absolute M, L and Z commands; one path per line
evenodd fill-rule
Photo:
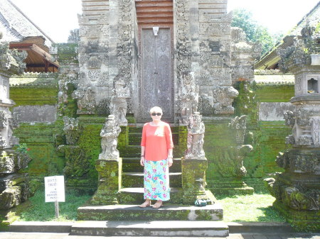
M 183 191 L 181 188 L 171 188 L 170 203 L 181 204 Z M 119 190 L 119 204 L 142 204 L 144 202 L 143 187 L 127 187 Z

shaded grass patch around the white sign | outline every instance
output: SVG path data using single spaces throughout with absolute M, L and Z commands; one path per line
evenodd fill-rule
M 18 221 L 76 221 L 78 207 L 90 198 L 75 191 L 65 191 L 65 202 L 59 202 L 59 218 L 55 218 L 55 204 L 46 203 L 44 190 L 39 189 L 29 199 L 31 206 L 20 214 Z

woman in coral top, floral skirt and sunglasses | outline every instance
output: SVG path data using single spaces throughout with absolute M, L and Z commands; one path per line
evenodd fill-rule
M 168 123 L 161 121 L 162 109 L 155 106 L 149 111 L 152 121 L 142 129 L 141 160 L 144 166 L 144 201 L 141 208 L 152 206 L 159 209 L 162 201 L 170 199 L 169 167 L 173 162 L 171 129 Z

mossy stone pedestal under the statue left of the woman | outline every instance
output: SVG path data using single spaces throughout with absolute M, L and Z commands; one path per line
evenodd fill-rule
M 97 160 L 95 168 L 99 179 L 98 188 L 95 195 L 92 196 L 91 204 L 118 204 L 117 195 L 122 184 L 122 157 L 117 160 Z

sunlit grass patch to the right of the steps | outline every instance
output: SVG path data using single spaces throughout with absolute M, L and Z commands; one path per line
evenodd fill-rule
M 285 221 L 272 209 L 275 199 L 270 194 L 216 196 L 216 198 L 223 205 L 223 221 Z

